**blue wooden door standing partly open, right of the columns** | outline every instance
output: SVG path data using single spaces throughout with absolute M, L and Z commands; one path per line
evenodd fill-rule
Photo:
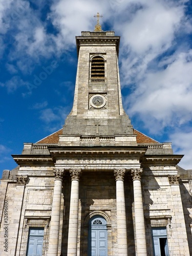
M 152 232 L 154 242 L 154 256 L 168 256 L 166 228 L 153 228 Z

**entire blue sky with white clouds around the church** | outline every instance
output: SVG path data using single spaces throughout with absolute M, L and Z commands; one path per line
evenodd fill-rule
M 121 36 L 123 106 L 135 129 L 185 154 L 192 169 L 191 0 L 0 0 L 0 175 L 11 154 L 59 130 L 72 109 L 75 36 Z

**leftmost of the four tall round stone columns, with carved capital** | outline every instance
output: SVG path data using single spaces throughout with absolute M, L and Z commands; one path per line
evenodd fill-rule
M 61 190 L 62 190 L 62 178 L 64 169 L 55 169 L 55 184 L 53 191 L 53 203 L 51 211 L 51 226 L 49 236 L 49 256 L 58 255 L 59 244 L 59 228 L 60 228 L 60 202 L 61 202 Z

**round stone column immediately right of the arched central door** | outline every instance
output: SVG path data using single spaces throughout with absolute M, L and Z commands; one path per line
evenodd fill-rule
M 116 200 L 117 200 L 117 242 L 118 255 L 127 255 L 127 233 L 126 233 L 126 213 L 124 198 L 124 182 L 125 169 L 115 169 L 114 175 L 116 179 Z

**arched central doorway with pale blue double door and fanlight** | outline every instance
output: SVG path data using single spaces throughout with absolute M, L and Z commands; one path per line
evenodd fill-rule
M 108 230 L 106 229 L 106 220 L 95 215 L 89 221 L 89 256 L 107 256 L 108 255 Z

